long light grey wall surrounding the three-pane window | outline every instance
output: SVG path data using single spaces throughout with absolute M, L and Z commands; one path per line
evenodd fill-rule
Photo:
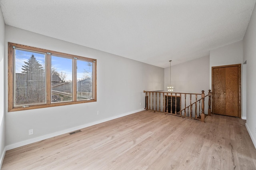
M 6 26 L 5 32 L 6 56 L 7 43 L 13 42 L 97 59 L 97 102 L 10 113 L 7 112 L 6 103 L 7 150 L 142 111 L 145 106 L 143 90 L 163 89 L 163 68 L 11 26 Z M 6 101 L 7 64 L 6 58 Z M 97 111 L 100 111 L 100 115 L 97 115 Z M 28 136 L 28 130 L 32 128 L 34 135 Z

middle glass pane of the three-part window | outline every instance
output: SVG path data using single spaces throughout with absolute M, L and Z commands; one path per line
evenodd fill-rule
M 72 59 L 52 55 L 52 103 L 72 101 Z

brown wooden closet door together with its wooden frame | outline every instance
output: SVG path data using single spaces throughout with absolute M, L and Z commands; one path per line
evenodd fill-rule
M 213 113 L 241 118 L 241 64 L 212 67 Z

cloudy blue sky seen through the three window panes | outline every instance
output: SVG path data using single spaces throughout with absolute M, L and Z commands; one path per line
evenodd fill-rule
M 36 53 L 31 51 L 24 51 L 20 49 L 16 49 L 15 56 L 15 72 L 21 73 L 22 65 L 24 65 L 24 61 L 28 61 L 32 54 L 36 60 L 44 67 L 45 66 L 45 57 L 44 53 Z M 52 66 L 56 68 L 56 70 L 60 73 L 61 71 L 66 72 L 66 81 L 72 80 L 72 59 L 57 57 L 52 55 Z M 84 70 L 87 70 L 88 75 L 90 75 L 92 71 L 92 67 L 88 66 L 87 61 L 77 60 L 77 79 L 82 79 L 84 75 Z

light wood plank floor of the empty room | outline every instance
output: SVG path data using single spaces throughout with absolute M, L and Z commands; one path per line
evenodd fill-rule
M 8 150 L 7 169 L 255 170 L 256 149 L 242 119 L 142 111 Z

